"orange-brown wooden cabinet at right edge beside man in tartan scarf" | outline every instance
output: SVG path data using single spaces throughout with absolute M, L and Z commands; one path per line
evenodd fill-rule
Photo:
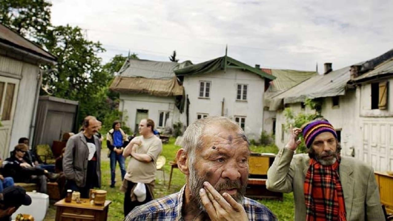
M 393 213 L 393 176 L 384 172 L 375 172 L 375 179 L 378 183 L 381 203 L 385 205 L 387 213 Z

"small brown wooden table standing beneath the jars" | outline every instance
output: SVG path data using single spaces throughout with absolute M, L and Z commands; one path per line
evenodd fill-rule
M 89 199 L 81 199 L 82 203 L 66 203 L 64 199 L 57 201 L 55 206 L 56 221 L 106 221 L 108 218 L 109 204 L 112 201 L 105 201 L 104 205 L 91 205 Z

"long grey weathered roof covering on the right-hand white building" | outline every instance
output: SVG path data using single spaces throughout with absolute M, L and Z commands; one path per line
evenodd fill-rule
M 274 96 L 269 110 L 277 110 L 279 103 L 284 99 L 285 103 L 304 102 L 306 98 L 324 98 L 345 94 L 345 87 L 349 81 L 349 66 L 328 74 L 317 75 L 299 83 Z

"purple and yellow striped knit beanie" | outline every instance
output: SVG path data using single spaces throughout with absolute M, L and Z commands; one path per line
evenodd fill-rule
M 303 128 L 303 138 L 306 147 L 310 148 L 316 136 L 323 132 L 330 132 L 337 139 L 336 130 L 334 130 L 334 127 L 326 120 L 318 120 L 307 124 Z

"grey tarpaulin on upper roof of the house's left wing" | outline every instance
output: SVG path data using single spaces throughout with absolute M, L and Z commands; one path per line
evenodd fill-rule
M 191 61 L 182 63 L 166 61 L 148 61 L 127 59 L 121 67 L 119 74 L 122 77 L 145 77 L 153 79 L 172 79 L 176 75 L 174 70 L 191 65 Z

